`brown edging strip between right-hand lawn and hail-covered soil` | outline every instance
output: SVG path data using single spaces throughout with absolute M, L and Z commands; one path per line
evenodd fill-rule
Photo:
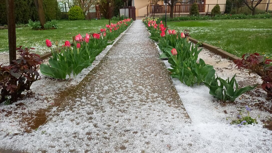
M 198 43 L 199 41 L 194 39 L 194 38 L 191 38 L 189 37 L 189 40 L 193 43 Z M 223 49 L 221 48 L 218 48 L 216 46 L 212 46 L 212 45 L 209 45 L 208 43 L 202 43 L 202 47 L 206 48 L 206 49 L 209 49 L 210 51 L 214 52 L 215 54 L 218 54 L 224 58 L 228 58 L 232 61 L 235 61 L 235 60 L 241 60 L 241 58 L 233 55 L 233 54 L 230 54 L 229 52 L 226 52 L 224 51 Z

